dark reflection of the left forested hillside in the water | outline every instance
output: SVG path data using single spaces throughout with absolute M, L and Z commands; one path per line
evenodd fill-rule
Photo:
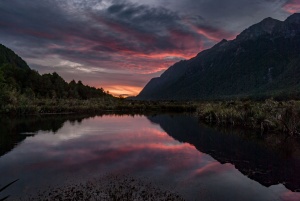
M 89 116 L 55 115 L 17 119 L 0 118 L 0 157 L 37 131 L 55 133 L 65 121 L 81 122 L 87 117 Z

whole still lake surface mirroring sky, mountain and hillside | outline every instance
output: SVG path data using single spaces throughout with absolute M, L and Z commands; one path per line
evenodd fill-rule
M 189 115 L 0 120 L 0 199 L 117 173 L 186 200 L 300 200 L 296 140 L 220 131 Z

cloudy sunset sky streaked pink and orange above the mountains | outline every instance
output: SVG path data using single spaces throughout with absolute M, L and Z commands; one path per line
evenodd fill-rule
M 172 64 L 300 0 L 0 0 L 0 43 L 39 73 L 137 95 Z

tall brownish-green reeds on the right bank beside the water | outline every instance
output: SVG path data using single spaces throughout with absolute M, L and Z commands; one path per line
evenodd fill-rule
M 268 99 L 264 102 L 202 103 L 196 113 L 207 123 L 260 129 L 262 133 L 300 134 L 300 101 L 279 102 Z

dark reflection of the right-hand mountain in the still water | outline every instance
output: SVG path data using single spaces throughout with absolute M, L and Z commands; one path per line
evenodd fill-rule
M 292 191 L 300 189 L 300 159 L 293 157 L 295 150 L 290 150 L 289 144 L 283 145 L 289 149 L 289 153 L 285 152 L 283 156 L 279 151 L 267 148 L 262 143 L 264 139 L 255 139 L 254 135 L 221 133 L 201 126 L 194 117 L 159 115 L 148 119 L 159 124 L 176 140 L 193 144 L 221 163 L 234 164 L 244 175 L 264 186 L 282 183 Z M 296 150 L 299 150 L 298 145 Z

